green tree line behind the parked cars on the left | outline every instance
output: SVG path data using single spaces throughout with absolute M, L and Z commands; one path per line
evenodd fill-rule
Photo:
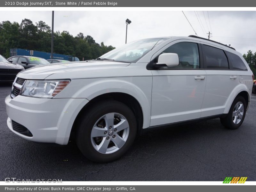
M 2 21 L 0 23 L 0 54 L 10 57 L 11 48 L 51 52 L 51 27 L 44 21 L 23 19 L 21 23 Z M 80 60 L 96 59 L 115 47 L 96 43 L 92 36 L 83 33 L 72 36 L 68 31 L 54 32 L 54 53 L 72 55 Z

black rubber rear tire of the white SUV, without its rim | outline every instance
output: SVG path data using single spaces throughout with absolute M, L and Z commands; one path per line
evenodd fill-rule
M 238 103 L 238 102 L 242 102 L 243 105 L 244 105 L 244 114 L 243 114 L 243 117 L 241 119 L 241 121 L 238 123 L 238 124 L 235 124 L 233 122 L 233 111 L 234 111 L 234 108 L 235 108 L 235 105 Z M 247 105 L 246 105 L 246 101 L 244 99 L 244 97 L 242 96 L 237 96 L 235 98 L 235 100 L 233 101 L 230 109 L 229 109 L 229 112 L 228 112 L 228 115 L 226 117 L 223 117 L 223 118 L 220 118 L 220 122 L 221 124 L 228 128 L 228 129 L 238 129 L 240 127 L 240 125 L 243 123 L 244 121 L 244 117 L 246 115 L 246 108 L 247 108 Z

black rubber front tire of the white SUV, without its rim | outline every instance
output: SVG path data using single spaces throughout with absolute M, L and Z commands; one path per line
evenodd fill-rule
M 91 132 L 97 120 L 108 113 L 122 114 L 129 124 L 129 134 L 124 145 L 116 152 L 102 154 L 92 145 Z M 83 155 L 93 162 L 107 163 L 120 158 L 132 146 L 137 133 L 136 118 L 132 110 L 124 103 L 109 100 L 92 105 L 80 118 L 80 124 L 76 132 L 76 143 Z

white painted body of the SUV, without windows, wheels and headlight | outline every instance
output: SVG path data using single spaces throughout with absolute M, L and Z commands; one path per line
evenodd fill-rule
M 134 97 L 143 112 L 142 128 L 228 113 L 241 91 L 252 92 L 252 71 L 231 70 L 148 70 L 148 63 L 177 42 L 209 44 L 242 55 L 226 46 L 192 37 L 170 37 L 154 47 L 136 63 L 83 61 L 56 63 L 20 72 L 24 79 L 71 82 L 53 99 L 18 95 L 5 99 L 7 125 L 11 120 L 24 125 L 39 142 L 68 143 L 72 125 L 80 110 L 104 93 L 121 92 Z M 236 78 L 230 79 L 231 76 Z M 250 97 L 249 97 L 250 100 Z

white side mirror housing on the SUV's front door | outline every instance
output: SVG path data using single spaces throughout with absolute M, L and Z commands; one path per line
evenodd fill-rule
M 157 65 L 165 64 L 168 67 L 178 66 L 180 63 L 179 56 L 177 53 L 163 53 L 159 55 Z

